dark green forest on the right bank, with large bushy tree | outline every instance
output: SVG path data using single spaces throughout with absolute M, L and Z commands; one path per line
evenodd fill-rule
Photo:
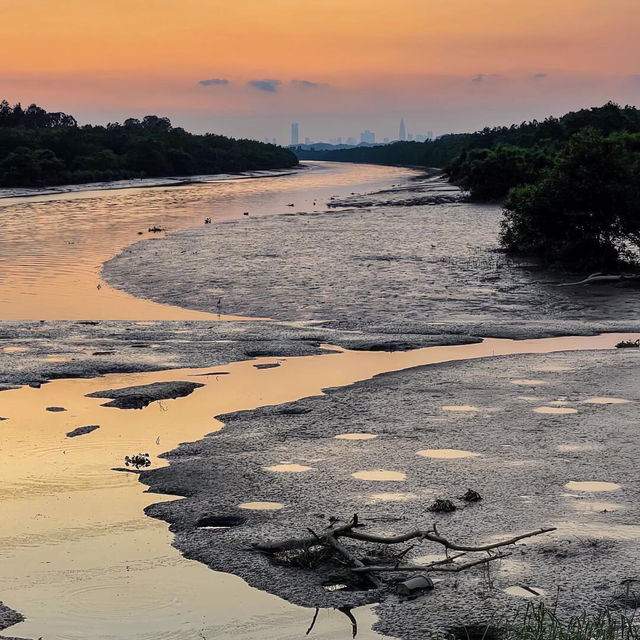
M 326 160 L 441 167 L 474 201 L 504 203 L 501 243 L 578 270 L 640 264 L 640 110 L 609 102 L 560 118 Z

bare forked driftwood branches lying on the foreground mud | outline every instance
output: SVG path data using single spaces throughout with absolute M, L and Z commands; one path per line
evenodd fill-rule
M 254 548 L 263 553 L 280 553 L 284 551 L 295 550 L 309 550 L 313 547 L 324 546 L 331 548 L 337 552 L 338 555 L 346 561 L 351 570 L 361 577 L 365 577 L 373 587 L 380 588 L 383 586 L 381 580 L 377 577 L 377 573 L 405 573 L 412 571 L 420 571 L 423 573 L 429 572 L 443 572 L 443 573 L 458 573 L 471 567 L 478 565 L 486 565 L 489 562 L 506 558 L 509 553 L 495 552 L 496 549 L 508 547 L 525 538 L 532 538 L 539 536 L 550 531 L 555 531 L 555 527 L 543 527 L 536 529 L 535 531 L 529 531 L 528 533 L 522 533 L 511 538 L 506 538 L 499 542 L 492 542 L 483 545 L 469 545 L 459 544 L 448 540 L 440 535 L 436 525 L 434 524 L 431 529 L 415 529 L 408 533 L 403 533 L 396 536 L 378 536 L 371 533 L 365 533 L 361 529 L 364 527 L 358 520 L 358 515 L 355 514 L 353 518 L 346 524 L 338 524 L 338 520 L 332 519 L 328 527 L 326 527 L 321 533 L 316 533 L 309 529 L 310 536 L 302 538 L 288 538 L 285 540 L 275 540 L 270 542 L 261 542 L 254 545 Z M 347 538 L 350 540 L 357 540 L 359 542 L 368 542 L 373 544 L 383 545 L 395 545 L 410 540 L 427 540 L 435 542 L 444 547 L 445 551 L 460 551 L 451 556 L 448 556 L 444 560 L 432 562 L 426 565 L 414 565 L 414 564 L 401 564 L 400 561 L 408 550 L 398 554 L 395 558 L 391 558 L 388 563 L 385 564 L 365 564 L 360 560 L 352 551 L 344 547 L 340 542 L 340 538 Z M 470 560 L 469 562 L 456 563 L 455 560 L 465 556 L 467 553 L 486 552 L 488 555 L 480 559 Z

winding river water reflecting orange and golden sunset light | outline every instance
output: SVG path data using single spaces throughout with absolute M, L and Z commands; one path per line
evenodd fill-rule
M 324 210 L 331 197 L 407 180 L 409 169 L 312 164 L 293 173 L 208 179 L 189 185 L 80 190 L 0 199 L 0 320 L 225 320 L 136 299 L 100 279 L 101 264 L 139 239 L 242 217 Z M 2 194 L 0 194 L 2 195 Z M 293 205 L 293 206 L 291 206 Z M 1 323 L 0 323 L 1 326 Z M 5 631 L 45 640 L 304 638 L 313 610 L 249 587 L 240 578 L 185 559 L 164 522 L 144 515 L 167 500 L 137 475 L 116 470 L 125 455 L 152 464 L 180 442 L 223 428 L 215 417 L 319 395 L 375 375 L 440 362 L 514 353 L 611 349 L 616 334 L 512 341 L 489 339 L 405 352 L 257 358 L 224 367 L 111 373 L 54 380 L 0 393 L 0 600 L 25 621 Z M 0 348 L 22 357 L 8 339 Z M 13 352 L 11 351 L 12 349 Z M 278 364 L 259 369 L 256 364 Z M 220 371 L 225 375 L 207 375 Z M 199 377 L 196 377 L 199 376 Z M 101 406 L 87 394 L 152 382 L 198 380 L 191 395 L 139 411 Z M 51 411 L 60 407 L 64 411 Z M 99 429 L 68 438 L 80 425 Z M 260 487 L 248 500 L 260 501 Z M 288 505 L 284 505 L 286 509 Z M 354 612 L 358 638 L 371 608 Z M 338 611 L 320 612 L 310 637 L 351 637 Z

